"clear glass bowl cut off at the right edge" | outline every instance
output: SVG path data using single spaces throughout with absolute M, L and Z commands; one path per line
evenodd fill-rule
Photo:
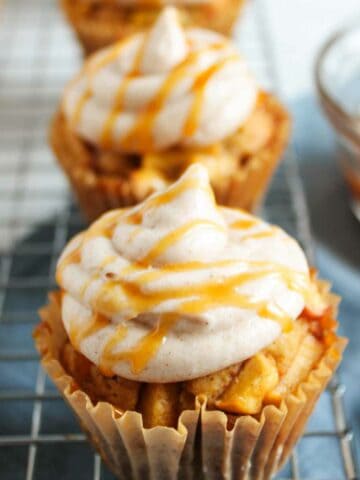
M 335 132 L 351 207 L 360 221 L 360 20 L 325 43 L 316 61 L 315 81 Z

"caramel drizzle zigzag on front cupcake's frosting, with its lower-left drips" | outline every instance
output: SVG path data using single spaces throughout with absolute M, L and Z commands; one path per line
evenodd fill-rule
M 219 264 L 220 262 L 216 262 Z M 223 262 L 228 263 L 231 262 Z M 204 268 L 204 265 L 200 263 L 193 264 L 192 262 L 188 265 L 180 265 L 179 270 L 191 270 L 195 268 Z M 176 266 L 170 267 L 171 271 L 177 271 Z M 257 314 L 262 318 L 270 318 L 273 321 L 278 322 L 283 331 L 289 331 L 292 327 L 292 320 L 287 316 L 285 312 L 280 310 L 278 306 L 270 306 L 265 301 L 254 302 L 252 299 L 246 297 L 245 295 L 239 294 L 236 289 L 241 285 L 253 281 L 259 278 L 262 278 L 264 275 L 271 273 L 281 275 L 289 288 L 295 291 L 303 291 L 303 286 L 301 285 L 302 275 L 299 275 L 299 278 L 295 278 L 293 272 L 289 272 L 284 269 L 282 272 L 272 271 L 271 268 L 265 268 L 258 272 L 244 272 L 242 274 L 234 275 L 230 278 L 226 278 L 221 282 L 216 280 L 203 283 L 200 285 L 191 285 L 184 286 L 180 288 L 168 288 L 160 292 L 150 292 L 144 294 L 142 286 L 145 283 L 152 281 L 155 277 L 161 278 L 162 274 L 165 272 L 146 272 L 142 275 L 141 278 L 137 278 L 136 283 L 126 282 L 124 280 L 109 282 L 104 288 L 107 291 L 107 295 L 110 295 L 109 304 L 113 304 L 112 297 L 113 295 L 117 298 L 117 288 L 121 288 L 122 293 L 125 294 L 125 297 L 122 296 L 125 300 L 123 307 L 128 306 L 129 304 L 135 309 L 134 317 L 140 315 L 144 311 L 149 311 L 155 309 L 162 302 L 168 299 L 183 299 L 177 310 L 176 314 L 167 313 L 162 314 L 159 320 L 158 325 L 153 329 L 149 334 L 145 335 L 133 348 L 127 351 L 120 353 L 113 353 L 114 349 L 124 340 L 127 334 L 127 328 L 123 325 L 119 326 L 115 333 L 110 336 L 105 347 L 103 348 L 100 368 L 105 375 L 113 375 L 112 370 L 113 366 L 120 362 L 126 361 L 131 365 L 131 369 L 134 374 L 140 373 L 148 364 L 148 362 L 153 358 L 153 356 L 158 351 L 161 343 L 164 341 L 169 330 L 175 325 L 178 318 L 182 315 L 193 315 L 196 316 L 212 308 L 219 307 L 221 305 L 227 305 L 229 307 L 237 308 L 247 308 L 255 309 Z M 114 289 L 114 286 L 116 288 Z M 105 298 L 104 291 L 100 292 L 99 299 Z M 109 309 L 108 304 L 108 309 Z M 101 309 L 103 305 L 95 302 L 93 305 L 94 308 Z M 82 340 L 93 335 L 97 331 L 105 328 L 109 325 L 109 320 L 106 316 L 97 314 L 91 320 L 89 326 L 85 328 L 72 328 L 69 336 L 71 342 L 75 348 L 80 348 L 80 343 Z

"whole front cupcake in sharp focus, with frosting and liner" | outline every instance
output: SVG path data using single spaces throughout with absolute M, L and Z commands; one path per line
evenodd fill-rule
M 270 478 L 346 344 L 299 245 L 201 164 L 77 235 L 57 282 L 42 364 L 119 478 Z

